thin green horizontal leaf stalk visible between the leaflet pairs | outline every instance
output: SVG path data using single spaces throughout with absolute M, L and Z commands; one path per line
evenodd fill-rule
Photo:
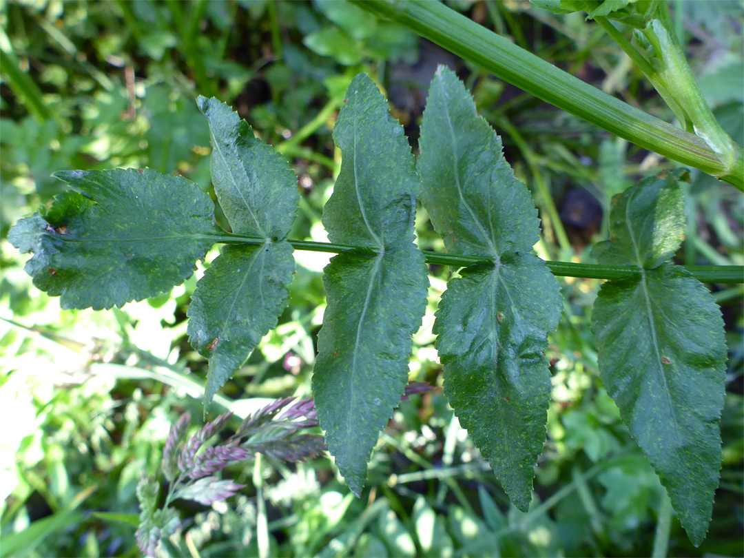
M 225 244 L 255 244 L 266 243 L 264 238 L 244 237 L 240 234 L 227 234 L 212 237 L 215 242 Z M 343 252 L 357 251 L 374 254 L 372 248 L 362 246 L 350 246 L 347 244 L 321 243 L 312 240 L 292 240 L 287 242 L 297 250 L 316 252 L 330 252 L 341 254 Z M 464 256 L 461 254 L 441 254 L 429 250 L 422 250 L 426 263 L 434 263 L 440 266 L 466 267 L 476 263 L 489 263 L 490 260 L 477 256 Z M 624 279 L 634 275 L 640 275 L 641 271 L 635 266 L 600 266 L 594 263 L 573 262 L 545 262 L 553 275 L 561 277 L 580 277 L 587 279 Z M 744 283 L 744 266 L 684 266 L 687 272 L 702 283 Z

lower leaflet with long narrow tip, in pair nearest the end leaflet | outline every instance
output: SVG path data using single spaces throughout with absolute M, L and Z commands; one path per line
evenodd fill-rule
M 209 359 L 205 411 L 217 390 L 274 329 L 295 272 L 286 241 L 226 246 L 197 283 L 187 315 L 191 345 Z

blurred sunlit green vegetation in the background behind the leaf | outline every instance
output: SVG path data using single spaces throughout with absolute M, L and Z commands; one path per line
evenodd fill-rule
M 448 4 L 626 102 L 673 116 L 617 45 L 580 14 L 517 0 Z M 741 1 L 671 2 L 702 89 L 744 143 Z M 330 131 L 351 77 L 388 94 L 416 150 L 438 63 L 458 71 L 503 135 L 533 192 L 546 259 L 589 261 L 609 199 L 670 167 L 558 112 L 429 42 L 341 1 L 0 0 L 0 527 L 2 556 L 135 556 L 135 486 L 157 472 L 170 423 L 201 415 L 205 361 L 186 339 L 196 277 L 121 310 L 60 310 L 5 240 L 48 204 L 56 170 L 152 167 L 211 187 L 208 126 L 197 94 L 231 103 L 298 175 L 291 237 L 325 240 L 320 224 L 340 153 Z M 740 194 L 699 173 L 685 193 L 679 263 L 744 263 Z M 214 197 L 214 195 L 213 195 Z M 219 214 L 218 214 L 219 215 Z M 422 248 L 443 249 L 425 212 Z M 199 264 L 200 276 L 217 248 Z M 220 405 L 245 414 L 266 398 L 310 395 L 327 255 L 297 252 L 289 308 L 228 382 Z M 449 270 L 432 266 L 429 308 L 414 337 L 411 379 L 441 385 L 431 333 Z M 693 548 L 676 520 L 664 544 L 664 493 L 603 390 L 589 333 L 597 280 L 560 278 L 565 312 L 550 337 L 553 403 L 528 513 L 510 507 L 437 388 L 411 397 L 379 440 L 361 499 L 327 459 L 263 462 L 248 488 L 190 517 L 170 551 L 253 556 L 476 557 L 741 555 L 744 534 L 743 287 L 712 285 L 727 327 L 724 463 L 708 539 Z M 661 518 L 661 521 L 659 519 Z

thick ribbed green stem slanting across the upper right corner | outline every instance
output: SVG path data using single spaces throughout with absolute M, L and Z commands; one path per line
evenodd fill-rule
M 744 190 L 744 167 L 730 167 L 701 138 L 601 92 L 437 1 L 351 0 L 405 25 L 525 92 L 659 155 Z

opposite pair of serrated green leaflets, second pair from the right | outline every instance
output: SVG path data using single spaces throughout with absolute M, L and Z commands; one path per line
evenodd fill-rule
M 562 303 L 531 249 L 539 238 L 527 188 L 472 97 L 440 66 L 421 126 L 423 204 L 449 251 L 493 258 L 449 282 L 434 333 L 444 390 L 511 500 L 527 510 L 545 441 L 551 381 L 545 349 Z

